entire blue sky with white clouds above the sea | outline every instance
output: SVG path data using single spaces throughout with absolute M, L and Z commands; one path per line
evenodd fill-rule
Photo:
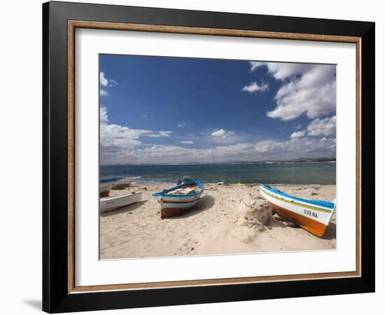
M 100 55 L 101 162 L 335 157 L 335 66 Z

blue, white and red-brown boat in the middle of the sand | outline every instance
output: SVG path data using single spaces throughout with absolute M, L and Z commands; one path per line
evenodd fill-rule
M 160 203 L 160 218 L 169 218 L 190 210 L 197 204 L 203 190 L 203 184 L 194 180 L 153 194 L 153 197 Z

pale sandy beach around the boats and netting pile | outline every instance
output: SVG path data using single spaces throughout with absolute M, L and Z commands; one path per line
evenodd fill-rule
M 271 229 L 240 224 L 238 209 L 245 195 L 257 198 L 258 207 L 266 204 L 256 185 L 207 186 L 193 210 L 161 220 L 160 204 L 151 194 L 171 187 L 139 185 L 111 190 L 110 195 L 132 191 L 142 191 L 143 195 L 141 202 L 100 214 L 101 259 L 325 250 L 336 246 L 336 214 L 322 238 L 291 227 L 276 214 Z M 335 185 L 276 187 L 307 199 L 335 198 Z

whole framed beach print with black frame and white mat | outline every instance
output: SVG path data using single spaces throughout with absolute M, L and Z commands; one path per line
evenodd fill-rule
M 43 310 L 374 291 L 374 23 L 43 4 Z

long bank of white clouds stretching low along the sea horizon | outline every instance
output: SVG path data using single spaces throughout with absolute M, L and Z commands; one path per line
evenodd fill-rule
M 328 118 L 332 120 L 332 118 Z M 330 121 L 322 120 L 324 125 Z M 315 124 L 315 123 L 314 123 Z M 320 125 L 320 123 L 318 123 Z M 319 129 L 319 128 L 318 128 Z M 304 132 L 304 131 L 302 131 Z M 324 132 L 326 134 L 327 132 Z M 181 163 L 181 162 L 230 162 L 285 160 L 293 158 L 335 158 L 335 139 L 323 137 L 292 137 L 288 141 L 245 141 L 224 145 L 234 132 L 216 130 L 211 133 L 213 142 L 209 148 L 191 148 L 177 145 L 148 145 L 142 137 L 170 137 L 170 131 L 135 130 L 109 123 L 104 106 L 100 108 L 100 156 L 101 163 Z M 209 136 L 210 134 L 208 134 Z M 181 144 L 194 144 L 184 140 Z

